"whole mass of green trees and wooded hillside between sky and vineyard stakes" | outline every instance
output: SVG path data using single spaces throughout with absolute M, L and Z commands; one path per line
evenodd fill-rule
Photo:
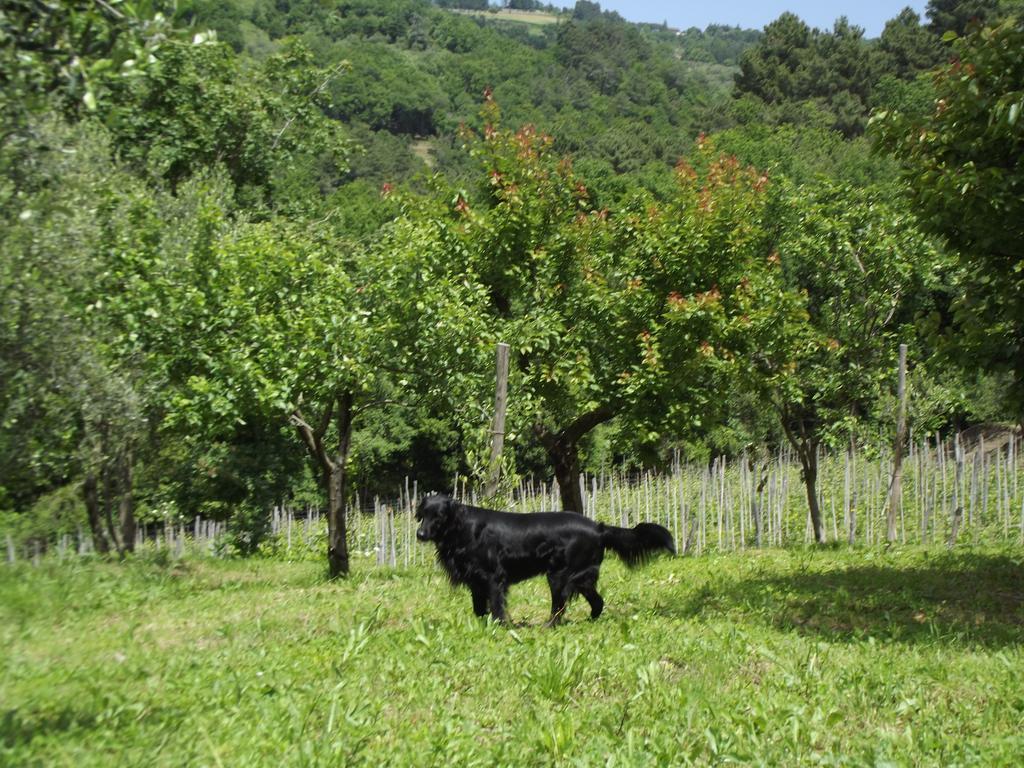
M 515 10 L 516 13 L 511 11 Z M 518 12 L 522 11 L 522 12 Z M 0 10 L 0 522 L 330 516 L 401 479 L 1024 419 L 1024 15 L 877 39 L 598 3 Z M 509 485 L 508 487 L 511 487 Z M 507 488 L 505 492 L 507 493 Z

